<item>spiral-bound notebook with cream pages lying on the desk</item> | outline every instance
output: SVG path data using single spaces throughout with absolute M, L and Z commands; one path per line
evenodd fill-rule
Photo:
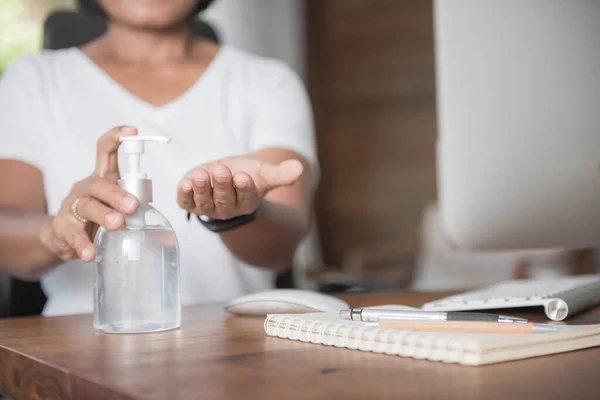
M 561 325 L 556 332 L 535 334 L 403 332 L 337 314 L 307 313 L 268 315 L 264 328 L 267 335 L 285 339 L 471 366 L 600 346 L 600 325 Z

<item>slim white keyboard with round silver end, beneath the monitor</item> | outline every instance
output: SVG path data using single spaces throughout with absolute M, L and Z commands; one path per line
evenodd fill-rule
M 548 318 L 562 321 L 597 304 L 600 304 L 600 275 L 577 275 L 507 281 L 426 303 L 422 309 L 466 311 L 543 306 Z

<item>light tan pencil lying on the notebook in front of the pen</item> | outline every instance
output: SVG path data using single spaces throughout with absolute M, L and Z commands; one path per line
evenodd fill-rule
M 555 332 L 556 328 L 541 324 L 528 323 L 498 323 L 473 321 L 405 321 L 395 319 L 380 319 L 379 322 L 367 324 L 384 329 L 420 332 L 449 332 L 449 333 L 512 333 L 530 334 Z

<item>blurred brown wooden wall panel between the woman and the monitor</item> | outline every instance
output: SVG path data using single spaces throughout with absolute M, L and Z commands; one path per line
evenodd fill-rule
M 419 247 L 436 199 L 431 0 L 308 0 L 307 80 L 321 183 L 324 261 L 397 243 Z

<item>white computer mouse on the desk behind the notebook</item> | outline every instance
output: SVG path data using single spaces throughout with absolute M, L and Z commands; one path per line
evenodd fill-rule
M 301 314 L 348 309 L 348 303 L 328 294 L 301 289 L 274 289 L 251 293 L 229 302 L 225 309 L 236 315 Z

